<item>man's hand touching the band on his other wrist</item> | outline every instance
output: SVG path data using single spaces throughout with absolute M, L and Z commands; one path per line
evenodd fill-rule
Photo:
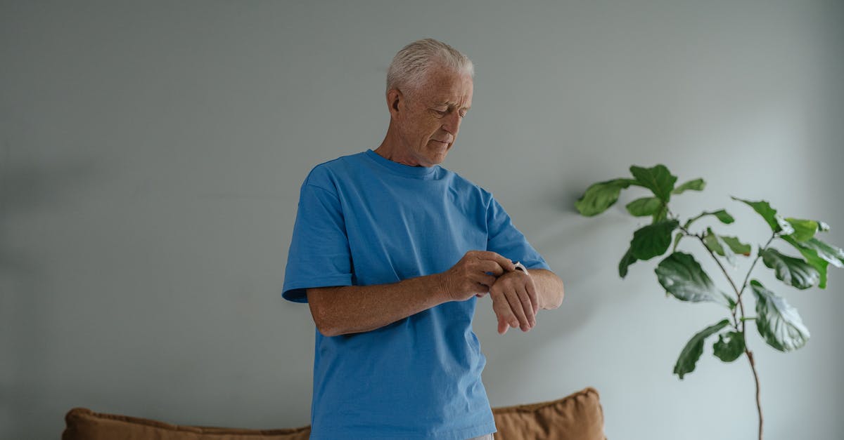
M 487 250 L 470 250 L 451 269 L 442 272 L 441 283 L 452 301 L 483 297 L 501 274 L 515 270 L 511 260 Z M 490 275 L 492 274 L 492 275 Z

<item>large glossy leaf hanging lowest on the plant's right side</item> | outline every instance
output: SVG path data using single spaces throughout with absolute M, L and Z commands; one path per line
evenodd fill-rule
M 756 295 L 756 329 L 768 345 L 779 351 L 793 351 L 806 345 L 809 330 L 797 309 L 756 280 L 750 282 L 750 287 Z

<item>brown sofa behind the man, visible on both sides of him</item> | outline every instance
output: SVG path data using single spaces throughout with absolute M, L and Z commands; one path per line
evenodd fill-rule
M 560 400 L 493 408 L 496 439 L 606 440 L 598 391 L 583 389 Z M 311 427 L 235 429 L 187 427 L 138 417 L 73 408 L 62 440 L 307 440 Z

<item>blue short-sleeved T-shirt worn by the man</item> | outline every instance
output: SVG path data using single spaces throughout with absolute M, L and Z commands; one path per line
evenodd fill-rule
M 372 150 L 317 165 L 300 192 L 284 298 L 440 273 L 469 250 L 548 269 L 492 195 L 440 166 Z M 311 439 L 464 440 L 495 432 L 472 331 L 477 298 L 376 330 L 316 332 Z

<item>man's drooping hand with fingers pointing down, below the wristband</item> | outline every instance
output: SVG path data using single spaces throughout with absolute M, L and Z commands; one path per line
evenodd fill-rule
M 539 311 L 533 277 L 522 271 L 506 272 L 490 287 L 492 309 L 498 318 L 498 333 L 512 328 L 533 329 Z

